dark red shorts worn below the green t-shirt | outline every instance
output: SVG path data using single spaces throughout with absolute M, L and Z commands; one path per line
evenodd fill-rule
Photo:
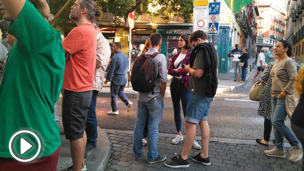
M 61 146 L 50 156 L 31 162 L 18 162 L 13 158 L 0 158 L 0 170 L 56 171 Z

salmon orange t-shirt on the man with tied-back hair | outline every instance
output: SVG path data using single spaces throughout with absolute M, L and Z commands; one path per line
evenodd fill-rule
M 92 90 L 97 49 L 93 25 L 75 27 L 62 44 L 70 54 L 70 59 L 66 61 L 62 88 L 74 92 Z

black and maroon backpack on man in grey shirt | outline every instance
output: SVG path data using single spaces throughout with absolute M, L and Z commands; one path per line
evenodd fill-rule
M 155 86 L 155 63 L 153 58 L 159 52 L 154 54 L 142 54 L 134 62 L 131 73 L 131 85 L 133 90 L 138 92 L 153 92 Z

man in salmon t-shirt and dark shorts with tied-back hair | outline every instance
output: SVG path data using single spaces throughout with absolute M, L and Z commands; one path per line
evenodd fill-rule
M 70 19 L 77 27 L 62 43 L 66 52 L 62 120 L 66 139 L 71 142 L 73 160 L 73 166 L 68 170 L 86 170 L 83 162 L 85 123 L 92 99 L 97 49 L 96 33 L 91 20 L 99 15 L 93 0 L 77 0 L 70 13 Z

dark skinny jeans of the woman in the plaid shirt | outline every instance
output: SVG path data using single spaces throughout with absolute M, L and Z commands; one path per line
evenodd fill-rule
M 177 132 L 181 131 L 181 105 L 183 107 L 183 114 L 186 117 L 186 108 L 190 98 L 190 92 L 179 79 L 174 78 L 170 84 L 170 93 L 173 103 L 174 121 Z

